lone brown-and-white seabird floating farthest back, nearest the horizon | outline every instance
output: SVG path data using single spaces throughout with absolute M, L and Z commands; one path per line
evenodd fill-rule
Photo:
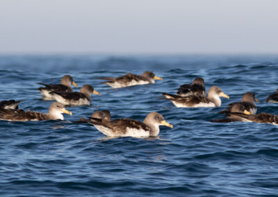
M 132 85 L 145 85 L 154 83 L 154 80 L 162 80 L 162 78 L 155 76 L 151 71 L 145 71 L 141 75 L 127 73 L 126 75 L 118 78 L 103 77 L 101 79 L 108 80 L 103 83 L 114 88 L 128 87 Z

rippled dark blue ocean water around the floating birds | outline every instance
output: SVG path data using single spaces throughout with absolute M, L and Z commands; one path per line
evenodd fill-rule
M 99 77 L 141 74 L 151 85 L 113 89 Z M 101 93 L 92 105 L 67 108 L 66 121 L 0 121 L 0 196 L 277 196 L 278 128 L 265 123 L 211 123 L 245 92 L 258 112 L 278 87 L 275 55 L 1 55 L 0 100 L 23 100 L 24 110 L 47 112 L 36 83 L 60 83 L 64 74 Z M 230 99 L 219 108 L 175 108 L 158 99 L 202 77 Z M 74 88 L 79 91 L 79 88 Z M 95 110 L 113 119 L 143 121 L 156 111 L 174 125 L 158 139 L 106 139 L 89 124 L 71 123 Z

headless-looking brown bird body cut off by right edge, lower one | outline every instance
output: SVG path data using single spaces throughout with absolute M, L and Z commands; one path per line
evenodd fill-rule
M 260 113 L 260 114 L 241 114 L 241 113 L 231 113 L 235 117 L 240 117 L 242 121 L 245 122 L 256 122 L 256 123 L 271 123 L 278 125 L 278 116 L 275 114 Z

